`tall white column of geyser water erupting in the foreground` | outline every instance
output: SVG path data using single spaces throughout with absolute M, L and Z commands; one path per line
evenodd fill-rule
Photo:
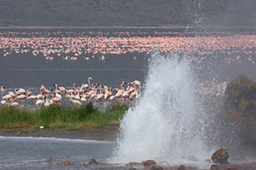
M 210 158 L 204 113 L 187 57 L 154 54 L 138 104 L 124 115 L 113 162 L 154 159 L 180 164 Z

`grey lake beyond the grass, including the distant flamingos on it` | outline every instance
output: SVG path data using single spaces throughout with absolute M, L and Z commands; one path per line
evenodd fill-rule
M 233 80 L 238 75 L 246 75 L 256 80 L 253 74 L 256 71 L 253 64 L 256 57 L 254 48 L 256 33 L 253 30 L 212 31 L 200 35 L 202 38 L 220 37 L 217 41 L 221 41 L 223 45 L 213 43 L 212 46 L 218 45 L 214 50 L 205 47 L 207 44 L 204 45 L 204 43 L 209 41 L 208 45 L 211 46 L 211 42 L 216 40 L 196 40 L 192 31 L 185 29 L 0 29 L 0 85 L 7 89 L 39 88 L 41 84 L 52 87 L 53 83 L 71 87 L 73 83 L 78 85 L 82 82 L 86 83 L 88 77 L 92 77 L 94 83 L 106 84 L 110 87 L 119 87 L 122 81 L 143 82 L 147 75 L 148 58 L 151 57 L 150 52 L 153 47 L 156 51 L 170 53 L 171 50 L 180 50 L 182 52 L 184 51 L 182 41 L 187 41 L 187 44 L 197 43 L 204 48 L 200 51 L 201 47 L 198 46 L 195 53 L 189 54 L 198 60 L 202 57 L 206 58 L 207 66 L 197 63 L 198 70 L 207 67 L 212 73 L 214 72 L 212 77 L 221 80 Z M 54 39 L 58 37 L 61 40 Z M 81 39 L 82 42 L 80 42 Z M 241 42 L 236 43 L 235 40 Z M 41 44 L 35 47 L 38 42 Z M 107 48 L 111 48 L 109 45 L 111 42 L 114 42 L 114 48 L 108 50 Z M 162 49 L 165 46 L 167 48 Z M 77 54 L 76 61 L 63 60 L 66 56 L 75 56 L 77 53 L 77 51 L 69 52 L 68 50 L 79 50 L 79 48 L 81 48 L 81 54 Z M 28 52 L 21 52 L 21 49 L 27 49 Z M 52 49 L 58 52 L 53 54 L 50 52 Z M 42 51 L 34 56 L 33 50 Z M 113 54 L 113 50 L 119 50 L 118 54 Z M 187 51 L 189 50 L 193 49 Z M 249 54 L 248 52 L 251 51 L 252 53 Z M 5 53 L 8 54 L 5 56 Z M 102 55 L 106 57 L 105 61 L 98 60 Z M 218 58 L 214 57 L 215 55 Z M 54 60 L 45 60 L 45 56 L 52 56 Z M 237 56 L 241 56 L 241 63 L 233 61 Z M 86 57 L 90 59 L 85 60 Z M 229 61 L 231 63 L 227 63 Z

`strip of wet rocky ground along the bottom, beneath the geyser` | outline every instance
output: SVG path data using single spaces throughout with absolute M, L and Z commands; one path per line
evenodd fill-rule
M 238 163 L 238 164 L 230 164 L 228 162 L 229 154 L 228 150 L 225 148 L 220 148 L 219 150 L 215 151 L 212 154 L 211 160 L 206 160 L 209 162 L 209 168 L 204 168 L 202 170 L 254 170 L 256 169 L 256 162 L 251 163 Z M 68 160 L 63 162 L 59 162 L 58 164 L 63 166 L 79 166 L 80 168 L 84 169 L 127 169 L 127 170 L 196 170 L 201 169 L 196 166 L 187 166 L 187 165 L 180 165 L 180 166 L 166 166 L 158 164 L 155 160 L 145 160 L 143 162 L 131 162 L 126 165 L 121 164 L 106 164 L 100 163 L 95 159 L 91 159 L 88 163 L 84 163 L 81 165 L 75 165 Z M 111 168 L 110 168 L 111 167 Z

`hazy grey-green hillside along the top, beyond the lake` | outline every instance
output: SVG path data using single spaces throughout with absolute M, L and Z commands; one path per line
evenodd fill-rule
M 254 25 L 254 0 L 0 0 L 0 27 Z M 256 25 L 256 24 L 255 24 Z

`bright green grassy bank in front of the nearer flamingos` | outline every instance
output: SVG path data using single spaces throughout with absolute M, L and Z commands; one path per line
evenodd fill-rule
M 102 112 L 91 103 L 81 107 L 52 105 L 36 111 L 26 108 L 0 107 L 0 128 L 83 129 L 88 126 L 117 124 L 128 109 L 127 105 L 116 104 Z

